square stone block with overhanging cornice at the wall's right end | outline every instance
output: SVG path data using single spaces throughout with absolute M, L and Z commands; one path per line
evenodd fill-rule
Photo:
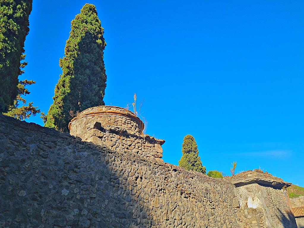
M 240 202 L 240 219 L 244 227 L 296 227 L 285 182 L 261 170 L 246 171 L 225 177 L 236 186 Z

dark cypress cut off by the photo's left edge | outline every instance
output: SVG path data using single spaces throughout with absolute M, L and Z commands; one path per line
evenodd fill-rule
M 12 111 L 19 92 L 18 76 L 26 63 L 24 41 L 29 33 L 33 0 L 0 0 L 0 113 Z M 18 99 L 18 98 L 17 98 Z

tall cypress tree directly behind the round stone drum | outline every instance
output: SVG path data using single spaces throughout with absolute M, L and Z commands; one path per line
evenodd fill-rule
M 43 118 L 46 121 L 44 126 L 67 131 L 75 113 L 104 105 L 105 46 L 95 5 L 85 4 L 71 22 L 65 57 L 59 61 L 62 75 L 55 87 L 54 103 Z

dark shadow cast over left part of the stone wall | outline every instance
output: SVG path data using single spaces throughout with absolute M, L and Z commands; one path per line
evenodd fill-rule
M 0 227 L 155 224 L 132 191 L 136 177 L 127 178 L 112 151 L 36 124 L 0 122 Z

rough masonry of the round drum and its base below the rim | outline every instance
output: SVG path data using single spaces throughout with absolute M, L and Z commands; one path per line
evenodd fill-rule
M 71 122 L 70 133 L 119 152 L 127 150 L 143 157 L 163 157 L 164 140 L 140 134 L 137 123 L 125 116 L 103 114 L 75 119 Z

